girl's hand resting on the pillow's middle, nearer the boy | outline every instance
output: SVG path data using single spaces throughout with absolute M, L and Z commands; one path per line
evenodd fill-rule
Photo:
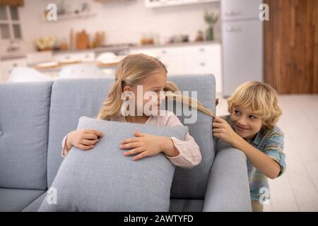
M 134 138 L 128 138 L 121 142 L 120 149 L 131 149 L 124 153 L 125 156 L 139 154 L 133 160 L 140 160 L 146 156 L 157 155 L 160 152 L 172 153 L 175 146 L 170 138 L 164 136 L 154 136 L 151 134 L 135 131 Z M 175 153 L 177 155 L 179 153 Z

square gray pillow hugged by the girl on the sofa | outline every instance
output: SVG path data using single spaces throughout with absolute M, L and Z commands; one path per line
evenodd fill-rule
M 105 133 L 90 151 L 72 148 L 52 187 L 57 204 L 43 201 L 39 211 L 168 211 L 175 167 L 163 153 L 133 161 L 119 149 L 134 130 L 184 140 L 186 126 L 156 126 L 81 117 L 78 129 Z

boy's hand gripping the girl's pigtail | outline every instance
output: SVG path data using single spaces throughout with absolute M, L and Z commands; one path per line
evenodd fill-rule
M 234 141 L 240 138 L 228 122 L 220 117 L 215 117 L 213 120 L 213 136 L 216 136 L 221 141 L 230 143 L 230 145 L 233 145 Z

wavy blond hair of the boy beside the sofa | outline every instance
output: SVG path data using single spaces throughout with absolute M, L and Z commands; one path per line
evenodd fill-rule
M 271 85 L 259 81 L 243 83 L 228 98 L 228 112 L 233 107 L 252 107 L 254 114 L 262 119 L 265 129 L 273 129 L 279 117 L 281 108 L 278 106 L 278 94 Z

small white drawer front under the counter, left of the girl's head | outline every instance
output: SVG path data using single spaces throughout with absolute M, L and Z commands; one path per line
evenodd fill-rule
M 95 52 L 58 53 L 53 55 L 54 61 L 95 61 Z

